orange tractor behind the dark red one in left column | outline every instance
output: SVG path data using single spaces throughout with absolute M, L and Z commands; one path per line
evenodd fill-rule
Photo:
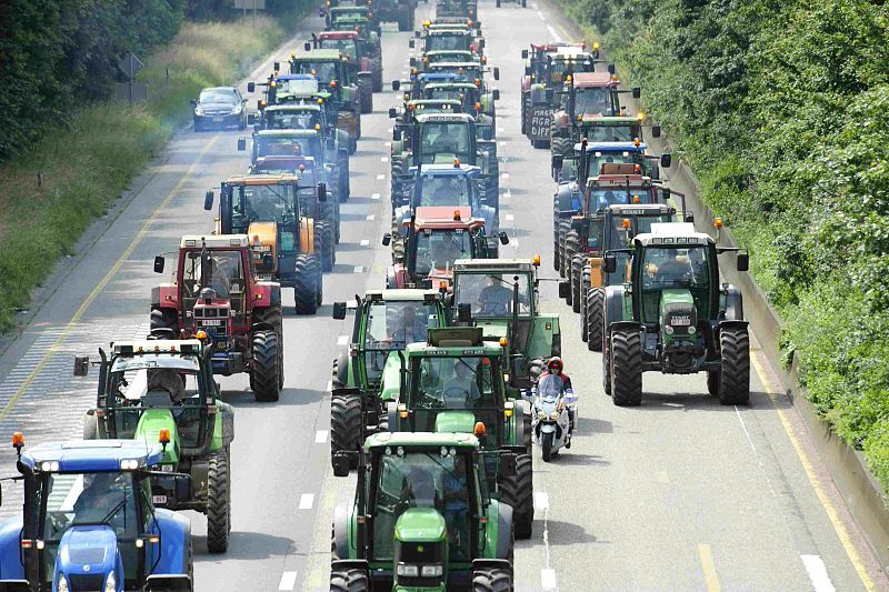
M 299 277 L 298 261 L 314 258 L 322 271 L 333 269 L 337 215 L 336 208 L 328 207 L 327 187 L 313 183 L 304 174 L 306 163 L 300 165 L 303 170 L 297 174 L 249 174 L 223 181 L 216 233 L 251 237 L 253 268 L 260 279 L 293 288 L 297 307 L 310 314 L 311 307 L 306 304 L 314 290 Z M 208 191 L 206 210 L 212 210 L 213 199 Z

